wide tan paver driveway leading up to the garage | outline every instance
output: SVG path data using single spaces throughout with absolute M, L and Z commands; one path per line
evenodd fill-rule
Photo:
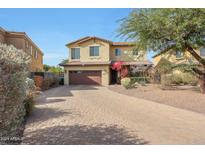
M 106 87 L 63 86 L 38 98 L 22 144 L 205 144 L 205 116 Z

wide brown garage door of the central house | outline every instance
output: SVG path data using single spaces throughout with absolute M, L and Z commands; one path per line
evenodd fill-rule
M 101 71 L 69 71 L 69 83 L 101 85 Z

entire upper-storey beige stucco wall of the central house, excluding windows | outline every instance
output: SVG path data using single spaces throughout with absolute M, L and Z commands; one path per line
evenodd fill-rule
M 91 57 L 90 46 L 99 46 L 99 56 Z M 81 44 L 72 44 L 69 46 L 69 56 L 71 55 L 71 48 L 80 48 L 80 59 L 72 60 L 69 57 L 69 62 L 81 61 L 81 62 L 98 62 L 98 61 L 145 61 L 146 53 L 139 51 L 138 55 L 133 55 L 133 50 L 135 46 L 112 46 L 107 42 L 100 40 L 89 40 Z M 121 56 L 115 56 L 115 49 L 121 49 Z

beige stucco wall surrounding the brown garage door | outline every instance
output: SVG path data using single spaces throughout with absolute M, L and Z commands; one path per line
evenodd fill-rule
M 69 85 L 69 71 L 83 71 L 83 70 L 93 70 L 102 71 L 102 85 L 108 86 L 110 83 L 110 67 L 108 65 L 98 65 L 98 66 L 69 66 L 64 67 L 64 84 Z

